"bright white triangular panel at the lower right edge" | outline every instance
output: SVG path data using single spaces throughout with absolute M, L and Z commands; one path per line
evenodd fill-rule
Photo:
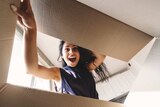
M 127 107 L 160 107 L 160 39 L 148 58 L 125 101 Z

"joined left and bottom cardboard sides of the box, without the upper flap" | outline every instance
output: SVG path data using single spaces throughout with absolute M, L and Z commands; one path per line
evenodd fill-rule
M 11 2 L 19 4 L 19 0 L 0 1 L 0 107 L 123 107 L 122 104 L 7 84 L 16 27 L 16 17 L 9 8 Z

